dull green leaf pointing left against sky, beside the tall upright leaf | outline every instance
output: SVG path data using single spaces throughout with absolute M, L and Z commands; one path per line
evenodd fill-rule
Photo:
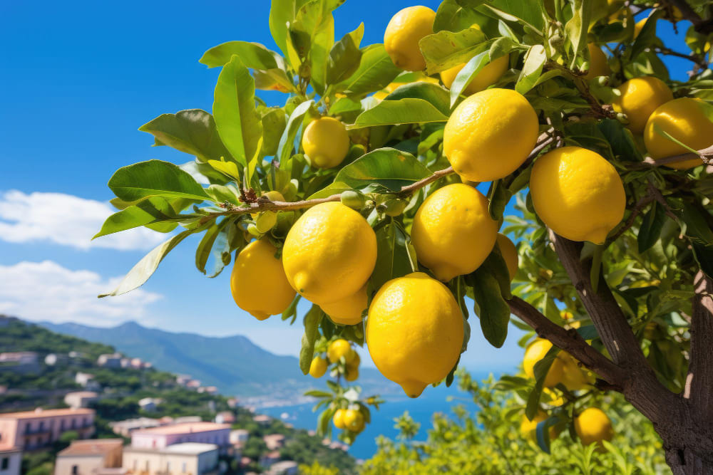
M 213 116 L 200 109 L 162 114 L 138 128 L 155 137 L 154 146 L 168 145 L 195 155 L 201 162 L 220 157 L 230 160 L 230 152 L 220 141 Z

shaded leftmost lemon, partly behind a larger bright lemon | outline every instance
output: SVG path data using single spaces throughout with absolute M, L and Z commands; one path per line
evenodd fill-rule
M 294 299 L 277 249 L 267 239 L 252 241 L 235 259 L 230 290 L 237 306 L 257 320 L 282 313 Z

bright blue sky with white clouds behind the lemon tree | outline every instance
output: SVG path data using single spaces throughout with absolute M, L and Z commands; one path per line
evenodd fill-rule
M 335 11 L 336 36 L 363 19 L 363 44 L 380 43 L 391 16 L 410 4 L 349 0 Z M 267 28 L 269 8 L 267 0 L 250 2 L 250 13 L 240 1 L 200 7 L 189 1 L 1 2 L 0 313 L 241 333 L 275 353 L 297 354 L 300 325 L 257 322 L 233 303 L 228 272 L 209 279 L 195 270 L 197 239 L 175 249 L 139 291 L 111 301 L 93 298 L 161 240 L 142 230 L 89 244 L 111 212 L 111 174 L 151 158 L 191 160 L 150 147 L 153 138 L 138 127 L 162 113 L 210 111 L 219 70 L 198 58 L 238 39 L 277 49 Z M 660 36 L 686 51 L 664 22 Z M 674 78 L 684 78 L 690 66 L 676 59 L 667 64 Z M 284 100 L 279 93 L 260 95 L 269 103 Z M 494 350 L 474 330 L 463 358 L 467 367 L 496 370 L 520 360 L 515 335 Z

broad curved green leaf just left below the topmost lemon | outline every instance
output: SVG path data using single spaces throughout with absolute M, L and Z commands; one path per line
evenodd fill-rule
M 361 48 L 359 68 L 334 86 L 335 91 L 344 91 L 347 95 L 366 95 L 383 89 L 401 73 L 386 54 L 383 44 L 374 44 Z

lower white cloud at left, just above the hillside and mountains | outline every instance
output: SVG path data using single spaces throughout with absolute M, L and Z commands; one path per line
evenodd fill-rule
M 102 278 L 92 271 L 72 271 L 53 261 L 0 266 L 0 313 L 28 320 L 73 321 L 95 326 L 138 320 L 158 293 L 135 291 L 97 298 L 121 277 Z

